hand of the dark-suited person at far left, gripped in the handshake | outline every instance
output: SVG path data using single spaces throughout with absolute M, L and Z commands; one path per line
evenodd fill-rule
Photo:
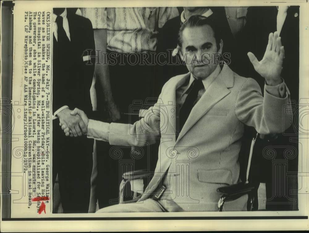
M 66 108 L 57 114 L 61 128 L 68 129 L 68 132 L 70 131 L 74 137 L 87 134 L 87 127 L 83 119 L 79 115 L 71 115 L 70 112 L 71 110 Z

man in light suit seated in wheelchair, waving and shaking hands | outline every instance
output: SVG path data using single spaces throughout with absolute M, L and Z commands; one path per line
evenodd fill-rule
M 269 34 L 261 61 L 248 53 L 265 78 L 263 97 L 255 80 L 237 75 L 218 59 L 224 55 L 219 28 L 199 15 L 182 24 L 178 52 L 189 73 L 168 80 L 158 102 L 133 125 L 91 120 L 79 109 L 71 112 L 82 117 L 89 138 L 111 145 L 144 146 L 160 137 L 155 173 L 139 200 L 98 212 L 222 210 L 225 197 L 217 189 L 241 186 L 238 158 L 245 126 L 270 134 L 291 125 L 292 112 L 284 111 L 290 93 L 280 77 L 284 48 L 278 33 Z M 73 136 L 66 125 L 62 129 Z M 247 210 L 249 195 L 243 193 L 226 201 L 223 210 Z

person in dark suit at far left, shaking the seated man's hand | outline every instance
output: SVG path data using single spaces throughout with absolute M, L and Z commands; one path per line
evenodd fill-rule
M 76 107 L 92 111 L 95 63 L 90 50 L 95 50 L 90 20 L 66 8 L 54 8 L 53 185 L 58 174 L 64 213 L 87 213 L 89 208 L 93 140 L 83 135 L 87 128 L 70 111 Z M 66 137 L 60 125 L 70 127 L 74 137 Z

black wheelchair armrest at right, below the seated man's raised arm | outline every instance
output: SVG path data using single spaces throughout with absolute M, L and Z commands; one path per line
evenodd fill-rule
M 222 193 L 226 198 L 236 198 L 251 192 L 255 188 L 253 183 L 238 183 L 217 189 L 217 192 Z

